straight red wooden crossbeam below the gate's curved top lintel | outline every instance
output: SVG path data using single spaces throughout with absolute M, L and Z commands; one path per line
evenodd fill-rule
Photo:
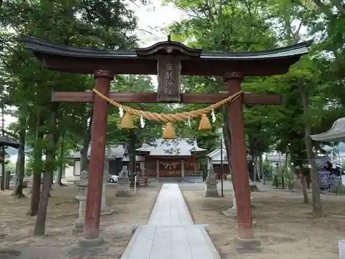
M 225 99 L 227 93 L 182 93 L 183 104 L 213 104 Z M 119 93 L 110 91 L 110 99 L 124 103 L 157 103 L 157 93 Z M 95 93 L 88 92 L 53 92 L 52 102 L 94 102 Z M 243 104 L 282 104 L 282 95 L 244 93 Z

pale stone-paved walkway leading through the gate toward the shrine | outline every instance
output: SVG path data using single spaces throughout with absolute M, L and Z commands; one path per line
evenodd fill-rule
M 163 184 L 148 224 L 137 227 L 121 259 L 220 259 L 220 256 L 204 225 L 193 223 L 179 185 Z

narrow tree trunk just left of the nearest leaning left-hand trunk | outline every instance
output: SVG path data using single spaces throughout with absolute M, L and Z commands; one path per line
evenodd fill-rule
M 37 116 L 37 136 L 34 143 L 34 164 L 32 169 L 32 189 L 30 216 L 37 215 L 39 209 L 39 196 L 41 195 L 41 173 L 42 173 L 42 142 L 44 134 L 44 119 L 41 115 Z

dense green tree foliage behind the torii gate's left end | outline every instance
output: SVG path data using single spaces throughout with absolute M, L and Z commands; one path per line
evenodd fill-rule
M 44 21 L 44 22 L 42 22 Z M 95 86 L 90 75 L 59 73 L 43 68 L 41 61 L 26 51 L 18 40 L 19 35 L 30 35 L 39 39 L 91 48 L 121 48 L 136 46 L 137 38 L 132 31 L 137 26 L 136 17 L 124 1 L 6 1 L 0 10 L 1 41 L 3 48 L 3 72 L 0 80 L 6 105 L 19 106 L 19 116 L 26 117 L 26 125 L 14 124 L 10 130 L 18 133 L 26 129 L 26 145 L 34 147 L 29 154 L 28 166 L 40 172 L 40 150 L 57 155 L 61 143 L 68 152 L 77 148 L 86 135 L 86 121 L 92 106 L 89 104 L 60 104 L 55 144 L 48 148 L 46 137 L 49 128 L 49 110 L 52 91 L 83 91 Z M 121 81 L 121 80 L 120 80 Z M 37 128 L 37 118 L 43 126 Z M 37 139 L 37 131 L 43 139 Z M 34 157 L 34 158 L 33 158 Z M 56 159 L 46 164 L 55 170 L 65 161 Z M 47 167 L 48 166 L 48 167 Z

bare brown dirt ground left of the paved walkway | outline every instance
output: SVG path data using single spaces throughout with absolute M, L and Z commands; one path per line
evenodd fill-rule
M 155 204 L 159 188 L 137 189 L 131 197 L 115 197 L 116 186 L 107 186 L 107 205 L 115 209 L 112 215 L 101 218 L 101 236 L 106 240 L 101 249 L 81 251 L 77 240 L 81 234 L 72 233 L 77 219 L 76 186 L 51 191 L 46 236 L 33 237 L 34 219 L 28 215 L 30 198 L 16 200 L 10 192 L 0 193 L 0 258 L 1 259 L 82 259 L 120 258 L 132 236 L 132 224 L 146 224 Z

